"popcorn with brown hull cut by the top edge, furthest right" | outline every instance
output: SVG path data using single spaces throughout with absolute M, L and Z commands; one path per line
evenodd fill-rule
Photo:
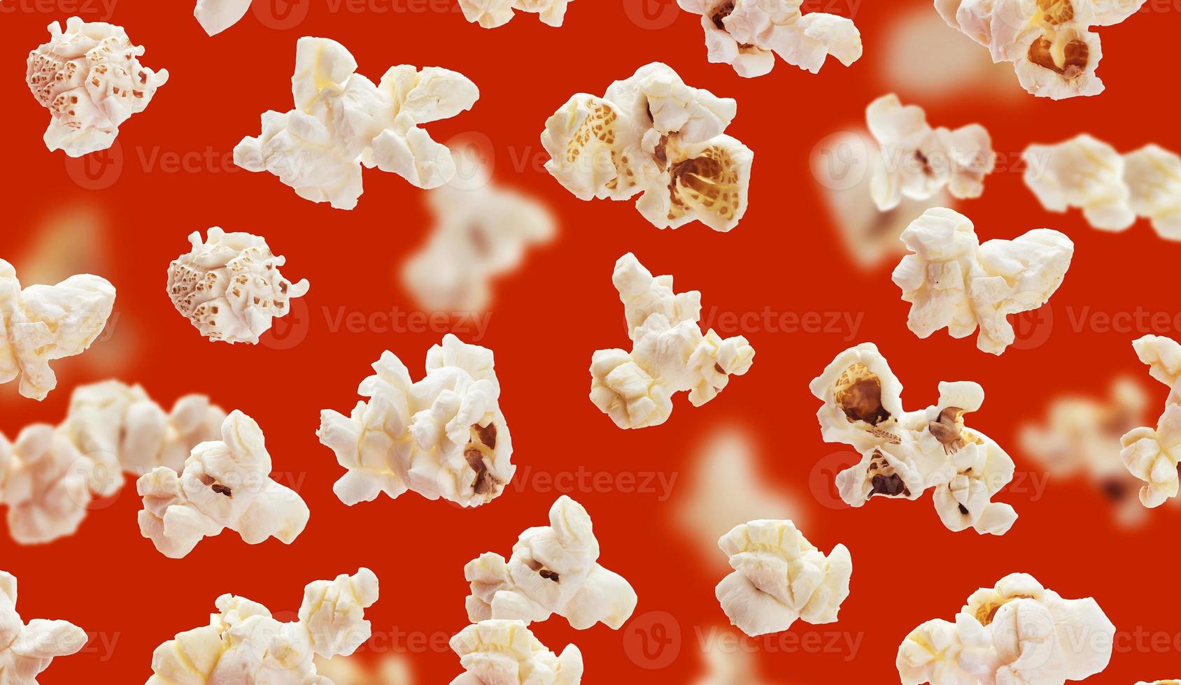
M 1009 61 L 1030 94 L 1061 100 L 1103 92 L 1091 26 L 1114 26 L 1147 0 L 935 0 L 952 28 Z

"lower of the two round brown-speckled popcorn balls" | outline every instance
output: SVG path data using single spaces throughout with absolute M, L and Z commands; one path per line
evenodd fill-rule
M 193 249 L 168 268 L 168 296 L 201 335 L 230 344 L 257 344 L 275 318 L 291 314 L 291 301 L 307 295 L 307 278 L 292 283 L 267 241 L 250 233 L 209 229 L 189 235 Z

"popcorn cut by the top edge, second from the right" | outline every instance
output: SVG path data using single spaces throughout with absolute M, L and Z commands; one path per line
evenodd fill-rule
M 685 12 L 702 15 L 709 60 L 729 64 L 740 77 L 761 77 L 775 68 L 775 55 L 811 73 L 828 55 L 844 66 L 861 59 L 861 32 L 852 19 L 809 12 L 803 0 L 677 0 Z

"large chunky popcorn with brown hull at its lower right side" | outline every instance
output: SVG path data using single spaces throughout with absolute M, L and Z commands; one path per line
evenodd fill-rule
M 478 507 L 513 480 L 513 437 L 501 414 L 492 351 L 454 335 L 426 353 L 426 376 L 412 383 L 391 351 L 373 364 L 351 416 L 320 413 L 320 442 L 348 469 L 333 492 L 348 506 L 379 493 L 415 490 Z

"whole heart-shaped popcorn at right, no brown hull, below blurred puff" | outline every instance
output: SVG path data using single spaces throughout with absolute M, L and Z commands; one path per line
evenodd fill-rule
M 1049 302 L 1075 253 L 1070 238 L 1051 229 L 980 243 L 971 219 L 944 208 L 924 212 L 902 242 L 911 253 L 893 279 L 911 303 L 907 327 L 921 338 L 941 328 L 961 338 L 979 328 L 976 345 L 994 355 L 1017 337 L 1009 315 Z

